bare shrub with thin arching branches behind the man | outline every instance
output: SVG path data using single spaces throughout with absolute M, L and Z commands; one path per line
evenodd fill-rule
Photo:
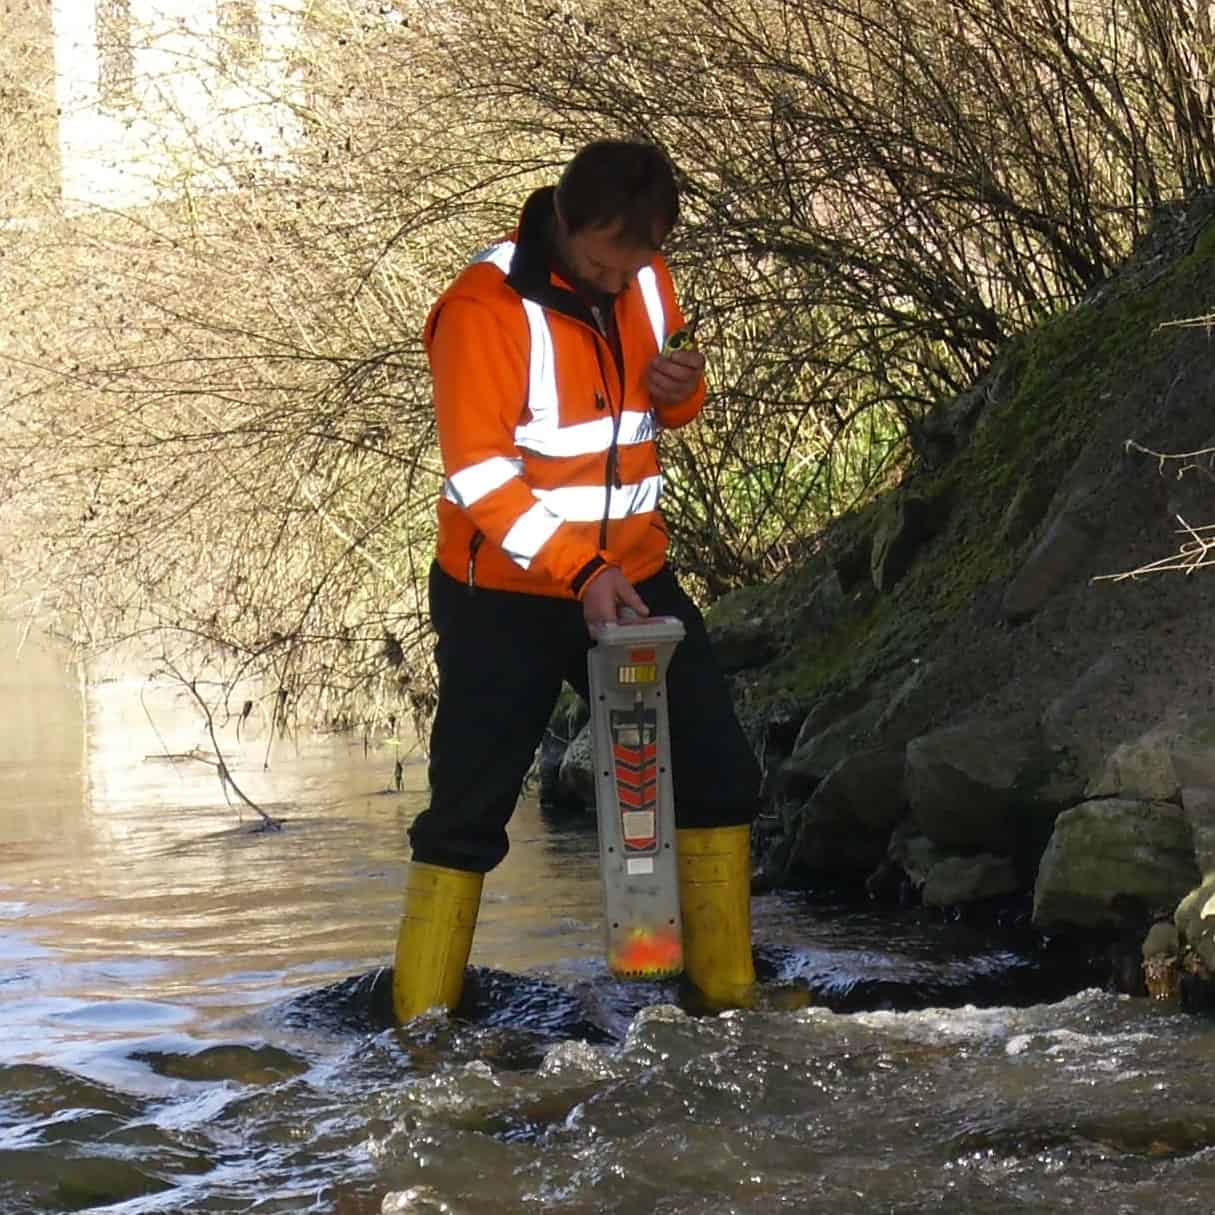
M 1197 0 L 327 0 L 277 40 L 222 7 L 227 108 L 176 115 L 154 197 L 0 234 L 6 572 L 326 719 L 425 712 L 422 320 L 581 143 L 683 176 L 711 401 L 666 501 L 708 597 L 891 484 L 1215 158 Z

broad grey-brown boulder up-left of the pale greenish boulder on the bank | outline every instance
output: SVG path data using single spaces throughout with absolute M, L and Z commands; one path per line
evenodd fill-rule
M 1083 787 L 1069 757 L 1025 716 L 946 727 L 906 748 L 911 820 L 946 849 L 1036 855 Z

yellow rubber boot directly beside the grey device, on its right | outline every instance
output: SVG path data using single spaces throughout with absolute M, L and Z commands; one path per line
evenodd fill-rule
M 710 1008 L 750 1008 L 751 827 L 686 827 L 676 835 L 684 973 Z

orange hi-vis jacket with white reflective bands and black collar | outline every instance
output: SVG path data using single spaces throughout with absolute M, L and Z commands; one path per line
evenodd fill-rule
M 424 338 L 446 482 L 442 569 L 470 587 L 578 598 L 606 565 L 656 573 L 660 428 L 690 422 L 703 379 L 677 405 L 650 399 L 645 372 L 683 323 L 666 262 L 615 301 L 620 360 L 590 305 L 552 270 L 552 188 L 518 231 L 443 293 Z

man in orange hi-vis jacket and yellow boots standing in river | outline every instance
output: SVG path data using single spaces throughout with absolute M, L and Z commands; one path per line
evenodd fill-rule
M 703 356 L 661 352 L 684 324 L 659 253 L 677 217 L 656 147 L 592 143 L 426 321 L 447 480 L 430 571 L 431 797 L 409 830 L 394 979 L 402 1022 L 459 1001 L 481 882 L 507 853 L 561 682 L 586 695 L 589 633 L 622 609 L 686 628 L 667 676 L 686 976 L 722 1007 L 755 983 L 758 767 L 667 567 L 659 510 L 657 431 L 705 400 Z

